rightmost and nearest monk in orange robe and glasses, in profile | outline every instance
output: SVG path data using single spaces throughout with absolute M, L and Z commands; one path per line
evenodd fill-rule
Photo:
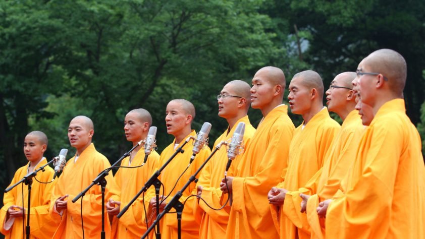
M 358 65 L 361 102 L 375 116 L 342 195 L 317 208 L 326 211 L 327 238 L 424 238 L 425 167 L 419 134 L 405 113 L 406 75 L 403 56 L 391 49 Z

